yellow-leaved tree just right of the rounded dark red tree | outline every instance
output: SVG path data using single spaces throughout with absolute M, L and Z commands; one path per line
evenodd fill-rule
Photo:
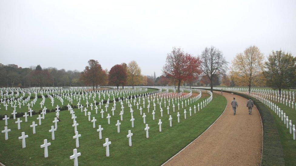
M 131 86 L 139 85 L 141 83 L 141 68 L 134 60 L 130 61 L 127 66 L 127 83 Z

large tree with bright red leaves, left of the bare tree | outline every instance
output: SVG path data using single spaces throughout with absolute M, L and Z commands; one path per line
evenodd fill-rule
M 181 48 L 173 48 L 167 54 L 166 63 L 163 66 L 163 74 L 170 77 L 178 83 L 178 93 L 180 93 L 180 85 L 182 81 L 193 80 L 201 73 L 198 57 L 193 57 L 188 53 L 184 53 Z

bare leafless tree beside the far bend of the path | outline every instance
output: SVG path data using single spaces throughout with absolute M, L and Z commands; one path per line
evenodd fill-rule
M 222 51 L 214 46 L 210 48 L 206 47 L 202 51 L 200 59 L 202 61 L 201 70 L 210 80 L 211 92 L 213 92 L 215 76 L 223 75 L 226 72 L 228 62 L 223 56 Z

